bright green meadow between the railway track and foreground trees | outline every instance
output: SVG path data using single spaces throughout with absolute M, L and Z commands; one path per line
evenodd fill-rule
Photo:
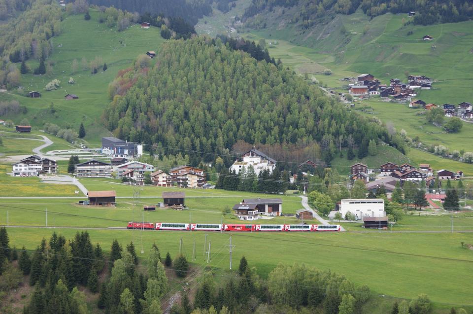
M 74 229 L 8 228 L 11 245 L 34 249 L 42 237 L 52 231 L 73 237 Z M 124 246 L 135 242 L 137 253 L 146 258 L 153 242 L 161 252 L 183 252 L 194 264 L 206 265 L 203 256 L 204 232 L 88 230 L 92 241 L 107 250 L 114 238 Z M 211 242 L 210 266 L 228 268 L 229 233 L 207 232 Z M 396 234 L 396 233 L 234 233 L 233 262 L 245 256 L 250 265 L 266 277 L 280 262 L 305 263 L 319 269 L 344 274 L 357 284 L 367 284 L 375 293 L 414 298 L 424 292 L 434 302 L 448 305 L 472 305 L 470 279 L 471 251 L 460 242 L 473 242 L 472 234 Z M 208 242 L 207 242 L 208 243 Z M 141 246 L 144 254 L 140 254 Z M 367 276 L 370 274 L 370 276 Z

